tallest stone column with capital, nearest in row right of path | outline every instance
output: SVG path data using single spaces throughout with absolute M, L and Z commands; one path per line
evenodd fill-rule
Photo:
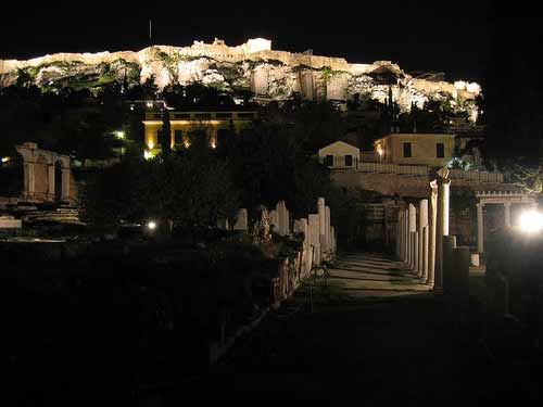
M 434 291 L 443 291 L 443 237 L 449 236 L 449 170 L 442 168 L 438 177 L 438 225 L 435 229 L 435 276 Z

